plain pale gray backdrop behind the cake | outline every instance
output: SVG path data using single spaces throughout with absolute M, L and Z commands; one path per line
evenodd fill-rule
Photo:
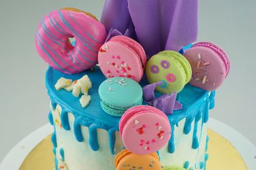
M 76 7 L 98 18 L 104 0 L 0 1 L 0 161 L 13 146 L 47 124 L 47 64 L 37 55 L 34 37 L 49 11 Z M 198 41 L 212 41 L 230 56 L 231 71 L 216 92 L 211 117 L 230 125 L 256 145 L 256 1 L 200 1 Z M 223 129 L 224 131 L 224 129 Z

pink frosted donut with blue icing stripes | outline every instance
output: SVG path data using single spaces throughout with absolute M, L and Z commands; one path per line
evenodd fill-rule
M 36 31 L 36 50 L 54 69 L 80 73 L 97 64 L 106 29 L 92 15 L 73 8 L 45 15 Z M 74 47 L 68 38 L 76 38 Z

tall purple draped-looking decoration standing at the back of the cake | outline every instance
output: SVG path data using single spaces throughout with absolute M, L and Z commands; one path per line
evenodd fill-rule
M 106 0 L 101 22 L 138 38 L 148 56 L 179 51 L 196 41 L 198 0 Z

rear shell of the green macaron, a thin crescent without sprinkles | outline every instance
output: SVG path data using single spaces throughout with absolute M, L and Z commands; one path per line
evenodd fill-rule
M 173 57 L 176 60 L 178 60 L 180 62 L 180 65 L 184 68 L 184 71 L 186 73 L 186 83 L 188 83 L 190 81 L 191 76 L 192 76 L 192 69 L 191 69 L 191 66 L 190 66 L 188 60 L 186 59 L 186 57 L 181 55 L 179 52 L 175 52 L 175 51 L 163 51 L 163 52 L 160 52 L 159 54 L 164 54 L 164 55 Z

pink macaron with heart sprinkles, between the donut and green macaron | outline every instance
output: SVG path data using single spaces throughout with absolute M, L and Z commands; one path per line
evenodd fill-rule
M 101 46 L 99 66 L 106 78 L 115 76 L 140 81 L 147 58 L 143 47 L 126 36 L 115 36 Z

